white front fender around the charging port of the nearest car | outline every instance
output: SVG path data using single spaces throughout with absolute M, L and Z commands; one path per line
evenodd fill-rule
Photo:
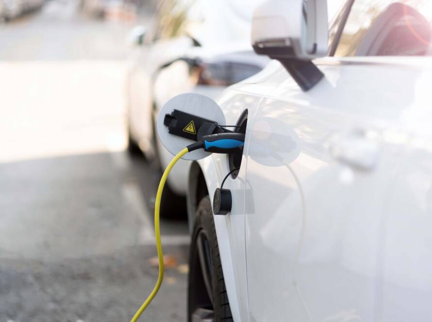
M 281 72 L 274 70 L 274 72 Z M 260 72 L 254 76 L 267 78 L 267 72 Z M 275 86 L 273 82 L 269 82 L 268 86 L 256 85 L 248 80 L 242 84 L 243 91 L 237 91 L 238 85 L 233 85 L 226 92 L 226 95 L 218 100 L 222 111 L 225 114 L 227 123 L 236 124 L 240 116 L 245 110 L 248 110 L 249 115 L 256 113 L 261 101 L 269 91 L 269 88 Z M 252 97 L 246 92 L 260 93 L 258 96 Z M 242 97 L 239 101 L 239 97 Z M 249 132 L 246 133 L 246 141 L 248 140 Z M 233 208 L 229 216 L 215 216 L 215 227 L 217 241 L 219 244 L 220 258 L 222 269 L 225 278 L 225 285 L 230 299 L 231 311 L 234 321 L 249 321 L 248 315 L 248 294 L 247 294 L 247 275 L 246 275 L 246 253 L 245 253 L 245 166 L 246 160 L 242 160 L 242 165 L 238 177 L 234 180 L 231 177 L 227 178 L 224 188 L 230 189 L 233 195 Z M 220 187 L 223 178 L 229 170 L 228 157 L 224 154 L 213 154 L 210 157 L 198 161 L 200 168 L 205 177 L 207 189 L 210 194 L 210 199 L 213 199 L 213 194 L 216 188 Z M 189 207 L 189 209 L 191 209 Z M 193 216 L 189 216 L 189 222 L 193 222 Z

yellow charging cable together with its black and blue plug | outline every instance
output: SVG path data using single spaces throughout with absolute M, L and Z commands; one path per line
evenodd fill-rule
M 159 291 L 162 281 L 164 279 L 164 254 L 162 252 L 162 242 L 161 242 L 161 230 L 160 230 L 160 222 L 159 222 L 159 211 L 161 207 L 161 199 L 162 192 L 164 190 L 164 186 L 166 183 L 166 179 L 169 175 L 169 172 L 173 168 L 173 166 L 179 161 L 186 153 L 192 152 L 194 150 L 198 150 L 200 148 L 204 149 L 207 152 L 212 153 L 232 153 L 238 152 L 238 149 L 244 145 L 245 135 L 238 132 L 233 133 L 219 133 L 206 135 L 202 138 L 202 141 L 193 143 L 191 145 L 186 146 L 183 150 L 181 150 L 177 155 L 169 162 L 166 167 L 164 174 L 162 175 L 161 181 L 159 182 L 159 187 L 156 193 L 156 201 L 154 204 L 154 231 L 155 231 L 155 239 L 156 239 L 156 249 L 159 263 L 159 274 L 157 278 L 156 285 L 151 291 L 150 295 L 144 301 L 142 306 L 136 311 L 133 316 L 131 322 L 136 322 L 144 310 L 149 306 L 150 302 L 156 296 Z M 225 181 L 225 179 L 224 179 Z

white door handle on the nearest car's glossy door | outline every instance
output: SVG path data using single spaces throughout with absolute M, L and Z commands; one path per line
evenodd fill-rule
M 377 165 L 381 155 L 381 145 L 376 139 L 368 138 L 366 131 L 355 130 L 332 140 L 332 157 L 354 169 L 370 171 Z

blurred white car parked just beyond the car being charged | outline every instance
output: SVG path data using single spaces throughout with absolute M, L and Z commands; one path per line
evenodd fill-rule
M 149 26 L 133 30 L 135 53 L 126 84 L 131 152 L 141 150 L 165 168 L 172 155 L 154 130 L 165 102 L 185 92 L 216 98 L 266 66 L 269 60 L 249 44 L 251 13 L 259 2 L 165 0 Z M 168 177 L 165 197 L 171 203 L 162 206 L 162 215 L 184 213 L 188 164 L 179 161 Z

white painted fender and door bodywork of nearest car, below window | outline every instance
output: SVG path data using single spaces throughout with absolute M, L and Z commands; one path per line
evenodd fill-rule
M 215 216 L 234 321 L 431 320 L 431 63 L 328 57 L 302 92 L 272 62 L 220 97 L 227 122 L 249 110 Z M 212 196 L 227 157 L 199 165 Z

